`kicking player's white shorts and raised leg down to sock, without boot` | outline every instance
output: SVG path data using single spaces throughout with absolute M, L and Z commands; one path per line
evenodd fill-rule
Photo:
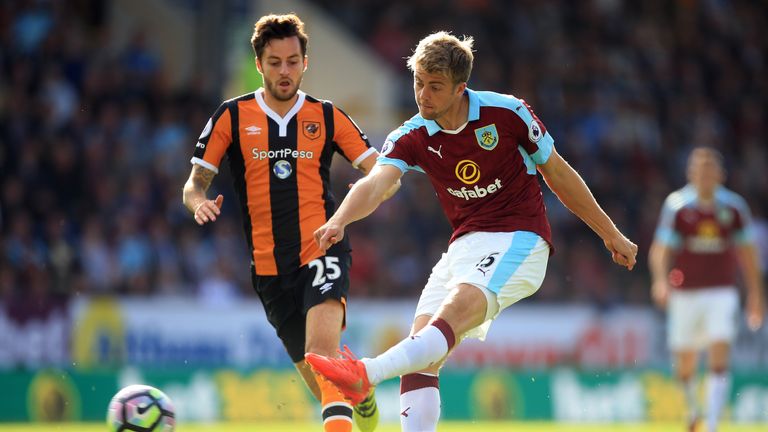
M 429 324 L 411 336 L 416 340 L 364 359 L 368 376 L 378 382 L 426 369 L 442 361 L 457 337 L 483 339 L 501 310 L 539 289 L 549 252 L 546 241 L 526 231 L 457 239 L 433 269 L 416 308 L 417 316 L 433 315 Z

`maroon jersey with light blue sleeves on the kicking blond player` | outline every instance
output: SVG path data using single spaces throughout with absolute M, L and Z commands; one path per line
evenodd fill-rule
M 531 231 L 552 243 L 536 165 L 554 141 L 522 99 L 466 90 L 467 123 L 454 131 L 416 115 L 387 137 L 377 161 L 426 173 L 453 228 Z

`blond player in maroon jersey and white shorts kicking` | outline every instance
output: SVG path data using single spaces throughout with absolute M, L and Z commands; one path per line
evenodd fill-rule
M 356 360 L 349 350 L 343 359 L 305 356 L 353 404 L 401 376 L 404 431 L 435 430 L 438 371 L 451 349 L 462 338 L 483 339 L 500 311 L 539 289 L 551 235 L 537 172 L 616 263 L 631 270 L 637 254 L 525 101 L 467 88 L 472 45 L 446 32 L 419 42 L 408 60 L 419 113 L 390 133 L 373 171 L 315 232 L 323 250 L 343 241 L 345 227 L 373 212 L 407 171 L 429 177 L 450 220 L 448 250 L 422 291 L 409 337 L 375 358 Z

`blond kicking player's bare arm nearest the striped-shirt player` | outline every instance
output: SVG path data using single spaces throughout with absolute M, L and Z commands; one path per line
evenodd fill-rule
M 387 198 L 396 188 L 403 172 L 392 165 L 377 164 L 371 172 L 358 180 L 350 189 L 339 209 L 315 231 L 315 241 L 325 251 L 344 238 L 344 228 L 363 219 Z

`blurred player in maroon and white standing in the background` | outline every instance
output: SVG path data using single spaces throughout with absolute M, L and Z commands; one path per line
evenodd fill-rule
M 688 184 L 667 197 L 648 262 L 652 295 L 668 314 L 667 342 L 688 405 L 688 426 L 701 417 L 696 403 L 697 357 L 709 350 L 707 427 L 717 428 L 728 399 L 728 358 L 736 335 L 737 262 L 747 286 L 747 324 L 763 322 L 763 285 L 747 204 L 722 186 L 720 153 L 699 147 L 688 159 Z

